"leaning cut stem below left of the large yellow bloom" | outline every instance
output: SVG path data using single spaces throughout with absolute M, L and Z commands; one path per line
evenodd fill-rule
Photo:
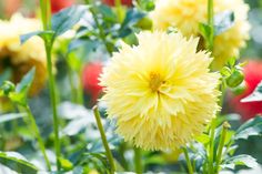
M 109 149 L 109 143 L 107 141 L 107 136 L 105 136 L 105 133 L 104 133 L 104 130 L 103 130 L 103 125 L 101 123 L 101 116 L 100 116 L 100 113 L 99 113 L 99 110 L 98 110 L 98 106 L 93 106 L 93 113 L 94 113 L 94 116 L 95 116 L 95 120 L 97 120 L 97 124 L 98 124 L 98 129 L 99 129 L 99 132 L 100 132 L 100 135 L 102 137 L 102 142 L 103 142 L 103 146 L 104 146 L 104 150 L 105 150 L 105 155 L 109 160 L 109 163 L 110 163 L 110 166 L 111 166 L 111 174 L 114 174 L 114 171 L 115 171 L 115 166 L 114 166 L 114 162 L 113 162 L 113 155 L 112 155 L 112 152 L 111 150 Z

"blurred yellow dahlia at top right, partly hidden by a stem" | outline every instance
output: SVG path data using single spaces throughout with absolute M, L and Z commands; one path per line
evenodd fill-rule
M 229 30 L 214 38 L 212 68 L 215 70 L 230 58 L 238 58 L 250 38 L 249 6 L 243 0 L 214 0 L 214 14 L 224 11 L 233 11 L 235 21 Z M 208 21 L 208 0 L 157 0 L 151 17 L 155 29 L 175 27 L 187 37 L 200 35 L 199 24 Z

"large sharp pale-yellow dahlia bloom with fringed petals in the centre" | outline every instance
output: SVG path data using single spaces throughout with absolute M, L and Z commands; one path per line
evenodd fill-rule
M 101 75 L 109 117 L 125 141 L 145 150 L 178 149 L 200 134 L 219 106 L 210 54 L 198 39 L 141 32 L 139 45 L 122 43 Z

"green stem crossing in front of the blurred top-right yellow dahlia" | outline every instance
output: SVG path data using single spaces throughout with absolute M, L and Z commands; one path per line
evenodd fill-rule
M 208 25 L 210 27 L 210 37 L 208 41 L 209 50 L 213 51 L 213 42 L 214 42 L 214 8 L 213 0 L 208 0 Z

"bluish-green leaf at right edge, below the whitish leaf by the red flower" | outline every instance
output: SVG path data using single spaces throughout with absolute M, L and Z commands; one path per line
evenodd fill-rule
M 249 136 L 261 135 L 262 133 L 262 116 L 255 116 L 242 124 L 235 132 L 235 140 L 248 139 Z

